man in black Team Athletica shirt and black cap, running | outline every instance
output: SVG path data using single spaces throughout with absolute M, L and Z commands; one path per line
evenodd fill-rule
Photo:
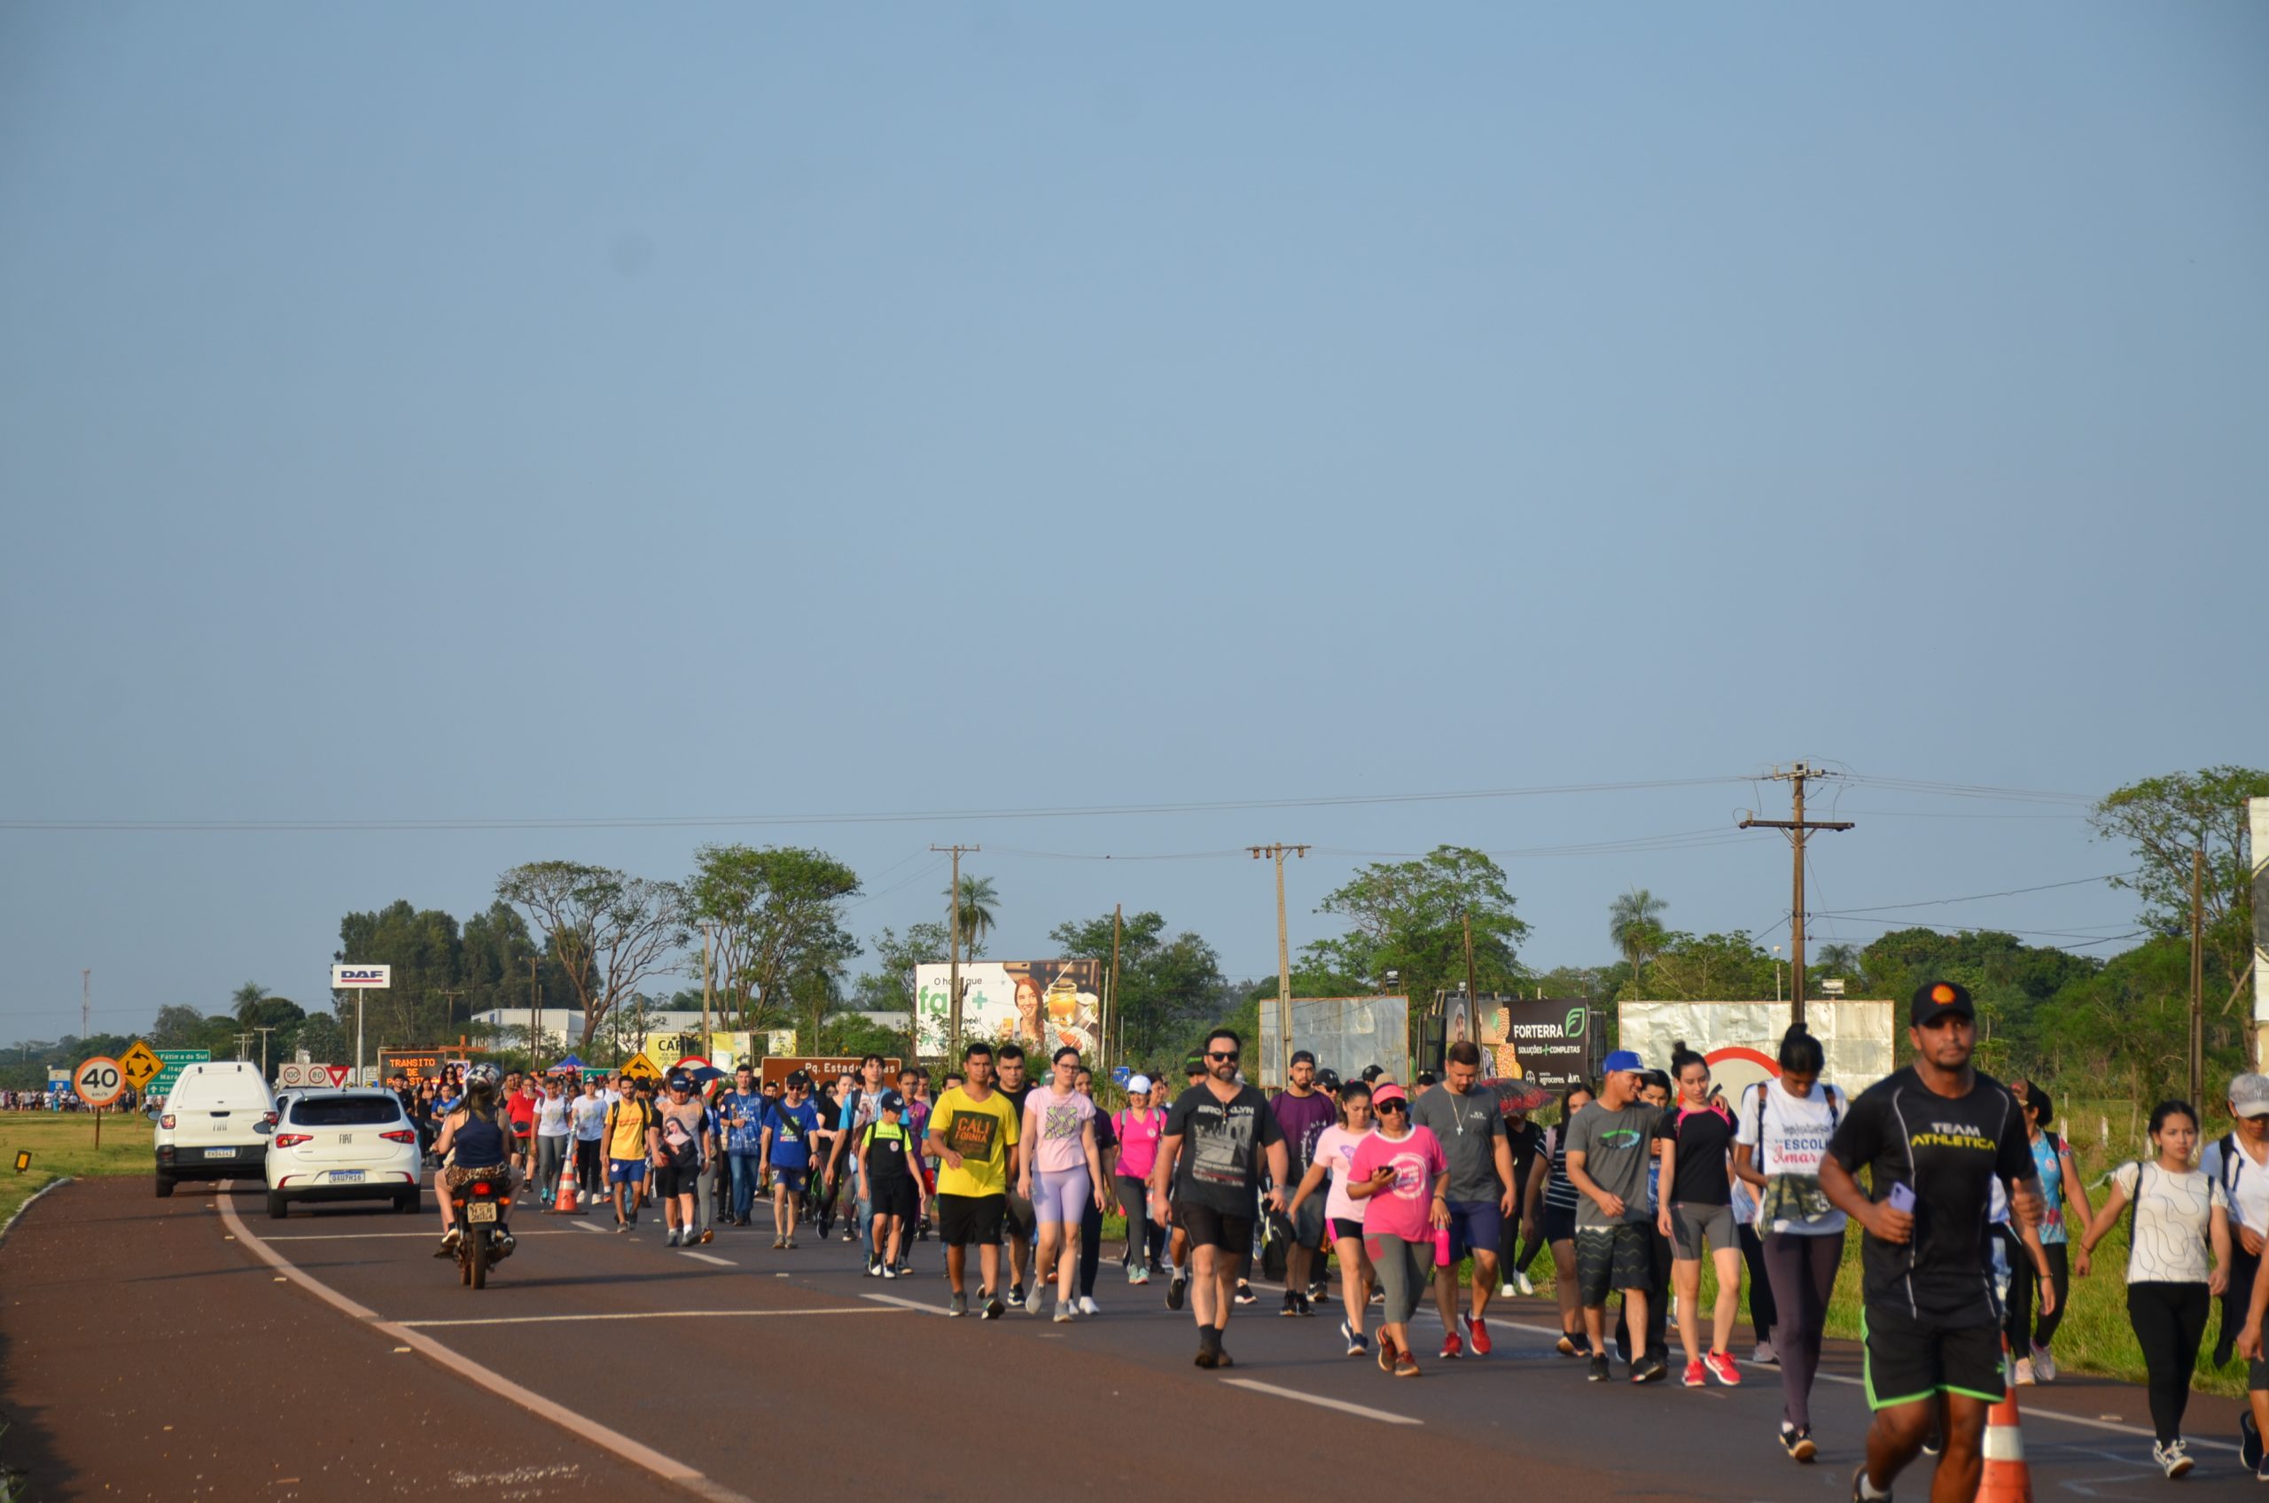
M 1867 1460 L 1852 1496 L 1879 1503 L 1945 1435 L 1931 1503 L 1972 1503 L 1985 1469 L 1985 1412 L 2001 1401 L 2001 1303 L 1992 1292 L 1988 1203 L 2010 1192 L 2019 1228 L 2040 1224 L 2040 1178 L 2024 1110 L 1969 1067 L 1976 1010 L 1951 981 L 1924 983 L 1906 1008 L 1915 1063 L 1852 1101 L 1820 1160 L 1829 1203 L 1865 1228 Z M 1867 1190 L 1852 1178 L 1867 1169 Z

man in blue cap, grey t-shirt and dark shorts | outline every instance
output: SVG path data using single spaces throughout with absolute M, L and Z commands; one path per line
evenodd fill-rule
M 1575 1203 L 1575 1281 L 1584 1296 L 1593 1383 L 1609 1378 L 1609 1290 L 1622 1290 L 1622 1317 L 1634 1333 L 1647 1328 L 1647 1299 L 1654 1292 L 1647 1160 L 1661 1110 L 1638 1097 L 1640 1069 L 1629 1049 L 1606 1056 L 1600 1097 L 1568 1124 L 1568 1183 L 1584 1196 Z M 1652 1353 L 1631 1358 L 1631 1383 L 1652 1383 L 1665 1371 L 1670 1369 Z

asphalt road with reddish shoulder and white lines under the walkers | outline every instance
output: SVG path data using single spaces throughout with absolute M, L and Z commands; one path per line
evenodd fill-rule
M 844 1480 L 987 1503 L 1003 1485 L 1057 1496 L 1205 1478 L 1239 1498 L 1311 1498 L 1352 1467 L 1429 1489 L 1840 1501 L 1867 1421 L 1856 1353 L 1836 1349 L 1813 1399 L 1822 1455 L 1797 1467 L 1774 1444 L 1772 1369 L 1745 1367 L 1740 1389 L 1591 1385 L 1552 1353 L 1543 1301 L 1495 1305 L 1486 1360 L 1432 1358 L 1439 1324 L 1423 1315 L 1425 1376 L 1395 1380 L 1343 1355 L 1336 1317 L 1282 1319 L 1264 1299 L 1230 1324 L 1237 1367 L 1207 1374 L 1164 1283 L 1128 1287 L 1110 1260 L 1098 1319 L 948 1321 L 935 1242 L 917 1244 L 914 1278 L 874 1281 L 853 1246 L 810 1235 L 794 1253 L 733 1228 L 667 1249 L 649 1210 L 631 1235 L 601 1217 L 522 1217 L 520 1253 L 472 1292 L 431 1258 L 431 1217 L 327 1208 L 277 1224 L 250 1192 L 147 1196 L 141 1181 L 70 1185 L 0 1251 L 0 1410 L 25 1430 L 0 1451 L 32 1460 L 48 1487 L 32 1498 L 551 1498 L 624 1478 L 651 1492 L 656 1476 L 717 1503 Z M 163 1324 L 70 1349 L 73 1333 L 84 1346 L 91 1328 L 152 1319 L 143 1308 Z M 197 1378 L 161 1378 L 186 1353 Z M 104 1426 L 125 1426 L 109 1435 L 213 1437 L 193 1464 L 243 1489 L 123 1487 L 120 1453 L 84 1408 L 95 1394 L 59 1383 L 104 1367 L 84 1355 L 127 1365 L 102 1389 Z M 245 1369 L 263 1378 L 243 1383 Z M 2140 1389 L 2065 1380 L 2024 1403 L 2038 1496 L 2169 1487 Z M 159 1412 L 175 1430 L 145 1424 Z M 2258 1496 L 2226 1444 L 2233 1417 L 2194 1401 L 2190 1494 Z M 452 1426 L 479 1426 L 476 1462 L 440 1460 Z M 275 1485 L 309 1476 L 300 1453 L 336 1485 Z M 1920 1494 L 1910 1473 L 1899 1496 Z

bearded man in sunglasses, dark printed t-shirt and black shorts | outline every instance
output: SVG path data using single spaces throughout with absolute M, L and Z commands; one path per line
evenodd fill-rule
M 1150 1215 L 1189 1233 L 1198 1367 L 1230 1367 L 1221 1333 L 1252 1253 L 1252 1196 L 1268 1181 L 1268 1208 L 1284 1210 L 1291 1156 L 1268 1097 L 1237 1078 L 1243 1040 L 1232 1028 L 1205 1038 L 1205 1081 L 1166 1112 L 1150 1165 Z M 1187 1149 L 1187 1151 L 1184 1151 Z

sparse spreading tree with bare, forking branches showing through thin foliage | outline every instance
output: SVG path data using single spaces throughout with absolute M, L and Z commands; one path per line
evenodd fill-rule
M 690 938 L 685 892 L 669 881 L 631 876 L 576 860 L 531 860 L 497 879 L 497 897 L 558 951 L 583 1013 L 583 1040 L 649 974 L 667 972 Z

